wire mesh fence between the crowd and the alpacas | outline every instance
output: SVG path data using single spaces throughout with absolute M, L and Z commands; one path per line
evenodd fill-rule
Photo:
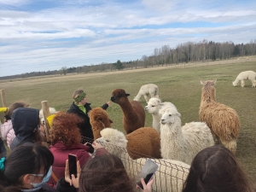
M 92 143 L 92 139 L 83 137 L 82 143 Z M 99 142 L 101 143 L 101 142 Z M 145 157 L 145 154 L 138 154 L 135 151 L 127 150 L 126 148 L 120 148 L 113 144 L 101 143 L 109 153 L 119 156 L 122 160 L 125 170 L 129 177 L 135 182 L 140 179 L 140 172 L 146 160 L 150 158 L 159 168 L 154 175 L 153 191 L 160 192 L 177 192 L 182 191 L 183 183 L 189 173 L 189 165 L 177 160 L 163 160 L 154 159 L 152 157 L 139 158 L 140 156 Z M 131 155 L 137 155 L 137 159 L 131 159 Z

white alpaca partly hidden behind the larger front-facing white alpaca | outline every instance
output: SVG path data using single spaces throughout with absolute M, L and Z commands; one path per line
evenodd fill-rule
M 152 126 L 159 133 L 160 133 L 160 119 L 161 119 L 161 114 L 159 113 L 159 111 L 161 108 L 174 108 L 177 110 L 177 108 L 172 104 L 172 102 L 161 102 L 159 98 L 149 99 L 148 105 L 145 107 L 145 110 L 148 111 L 148 113 L 152 114 L 152 117 L 153 117 Z

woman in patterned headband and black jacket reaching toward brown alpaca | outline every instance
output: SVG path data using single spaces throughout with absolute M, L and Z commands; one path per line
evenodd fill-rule
M 104 105 L 102 105 L 102 108 L 106 110 L 109 105 L 110 102 L 107 102 Z M 75 90 L 73 92 L 73 104 L 67 110 L 67 113 L 75 113 L 79 115 L 81 119 L 83 119 L 83 122 L 79 124 L 81 135 L 82 137 L 89 138 L 87 142 L 92 143 L 91 141 L 93 141 L 94 138 L 90 125 L 90 110 L 90 103 L 87 102 L 87 97 L 84 90 Z

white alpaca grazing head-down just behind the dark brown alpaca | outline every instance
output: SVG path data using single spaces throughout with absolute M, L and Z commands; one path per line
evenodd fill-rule
M 139 102 L 142 96 L 144 96 L 146 102 L 148 102 L 149 96 L 159 98 L 158 86 L 156 84 L 144 84 L 133 100 Z

